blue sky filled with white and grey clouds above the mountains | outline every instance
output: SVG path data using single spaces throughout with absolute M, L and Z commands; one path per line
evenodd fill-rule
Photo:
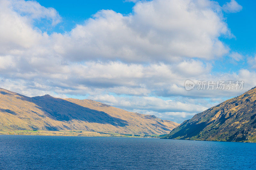
M 255 87 L 255 5 L 0 0 L 0 87 L 182 123 Z

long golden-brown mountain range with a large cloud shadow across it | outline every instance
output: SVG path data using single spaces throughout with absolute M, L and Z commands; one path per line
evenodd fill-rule
M 58 131 L 81 131 L 161 135 L 178 125 L 156 116 L 128 112 L 93 100 L 61 99 L 50 95 L 27 97 L 0 88 L 0 134 L 55 131 L 54 134 L 58 135 Z

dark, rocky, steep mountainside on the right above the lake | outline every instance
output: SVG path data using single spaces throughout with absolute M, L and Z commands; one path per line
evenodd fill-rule
M 256 87 L 196 114 L 163 138 L 256 142 Z

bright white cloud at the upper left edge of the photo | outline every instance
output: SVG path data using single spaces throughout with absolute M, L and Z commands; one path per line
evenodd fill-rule
M 11 8 L 9 1 L 0 1 L 0 50 L 2 54 L 21 54 L 22 48 L 30 48 L 40 40 L 40 34 L 32 28 L 28 18 Z

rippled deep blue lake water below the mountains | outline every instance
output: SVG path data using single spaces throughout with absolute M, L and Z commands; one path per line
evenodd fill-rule
M 0 169 L 256 169 L 256 143 L 0 135 Z

